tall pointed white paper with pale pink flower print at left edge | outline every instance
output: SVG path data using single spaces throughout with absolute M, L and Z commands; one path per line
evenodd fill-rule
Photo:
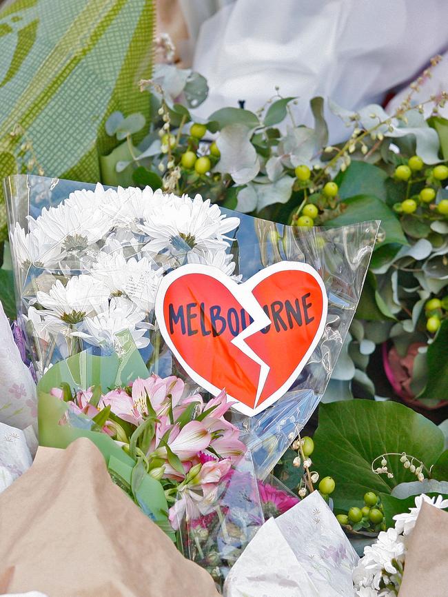
M 0 302 L 0 422 L 37 432 L 36 384 L 20 357 Z

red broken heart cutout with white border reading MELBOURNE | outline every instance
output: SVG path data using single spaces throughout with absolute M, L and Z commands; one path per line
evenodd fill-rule
M 292 386 L 325 329 L 327 294 L 313 267 L 281 261 L 244 283 L 210 265 L 167 274 L 156 297 L 165 342 L 192 380 L 253 416 Z

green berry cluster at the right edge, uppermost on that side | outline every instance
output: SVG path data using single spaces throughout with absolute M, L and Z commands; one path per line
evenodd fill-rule
M 435 212 L 441 216 L 448 215 L 448 199 L 442 199 L 436 205 L 433 201 L 436 199 L 436 189 L 440 188 L 442 181 L 448 179 L 448 167 L 444 164 L 439 164 L 434 168 L 425 170 L 423 176 L 421 170 L 425 167 L 425 163 L 420 156 L 412 156 L 407 161 L 407 164 L 400 164 L 396 167 L 394 176 L 398 181 L 411 184 L 418 183 L 425 180 L 427 186 L 422 188 L 418 194 L 407 197 L 401 203 L 396 203 L 394 209 L 402 214 L 414 214 L 420 212 L 425 216 L 428 212 Z M 436 188 L 434 188 L 436 187 Z M 409 190 L 409 189 L 408 189 Z

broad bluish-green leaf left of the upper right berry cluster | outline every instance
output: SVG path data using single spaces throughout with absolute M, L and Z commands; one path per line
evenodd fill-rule
M 368 195 L 385 201 L 386 179 L 387 174 L 381 168 L 367 162 L 352 161 L 336 180 L 339 185 L 338 196 L 345 200 L 356 195 Z

